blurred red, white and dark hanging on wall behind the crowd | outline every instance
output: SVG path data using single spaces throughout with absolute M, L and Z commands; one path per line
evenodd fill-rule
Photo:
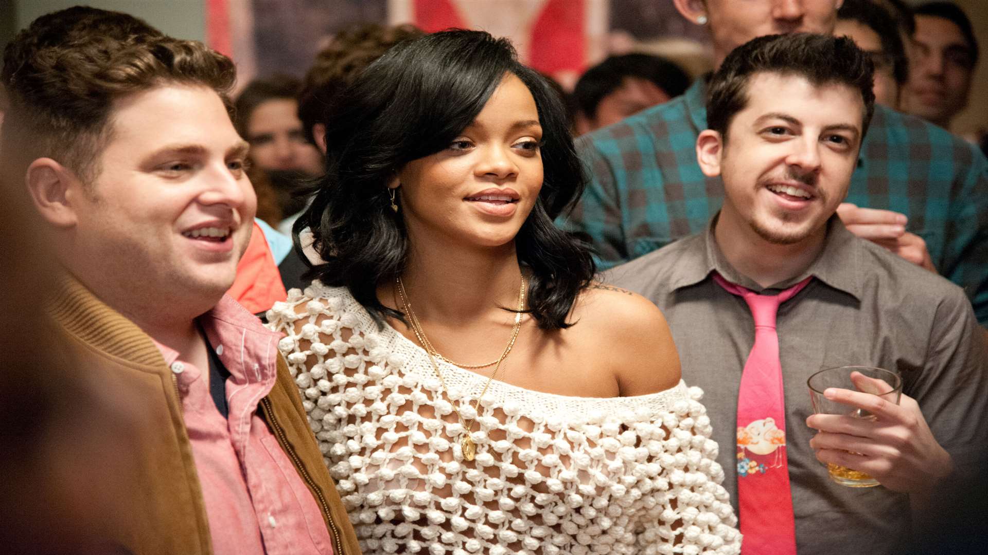
M 300 77 L 336 33 L 362 23 L 507 37 L 523 62 L 566 89 L 610 53 L 706 56 L 703 31 L 655 0 L 206 0 L 207 41 L 233 58 L 241 83 Z

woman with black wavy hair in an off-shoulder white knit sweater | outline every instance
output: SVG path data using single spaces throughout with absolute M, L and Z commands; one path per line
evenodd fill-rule
M 326 121 L 323 262 L 268 318 L 364 552 L 737 553 L 662 313 L 552 223 L 583 175 L 511 44 L 399 43 Z

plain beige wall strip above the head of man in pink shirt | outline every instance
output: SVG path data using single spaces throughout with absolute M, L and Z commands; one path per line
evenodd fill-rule
M 0 0 L 0 14 L 5 14 L 5 3 L 14 5 L 17 30 L 48 12 L 81 4 L 132 14 L 179 39 L 206 39 L 205 0 Z M 5 15 L 0 18 L 8 19 Z

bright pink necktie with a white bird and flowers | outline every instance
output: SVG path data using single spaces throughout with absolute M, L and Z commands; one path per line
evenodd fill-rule
M 713 279 L 748 303 L 755 345 L 738 390 L 738 509 L 742 555 L 795 555 L 795 519 L 785 459 L 785 396 L 776 313 L 809 283 L 805 278 L 778 295 L 760 295 L 714 274 Z

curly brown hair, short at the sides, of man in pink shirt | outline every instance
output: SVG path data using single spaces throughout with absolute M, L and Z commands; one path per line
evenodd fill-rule
M 4 50 L 2 150 L 50 157 L 86 183 L 99 173 L 115 101 L 176 83 L 208 87 L 228 105 L 235 78 L 226 56 L 133 16 L 81 6 L 47 14 Z

